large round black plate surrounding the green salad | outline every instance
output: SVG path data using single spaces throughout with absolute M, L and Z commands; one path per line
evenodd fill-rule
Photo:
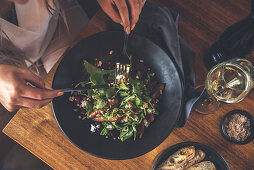
M 123 40 L 124 32 L 102 32 L 79 42 L 59 64 L 53 88 L 72 87 L 73 82 L 82 77 L 83 59 L 92 62 L 110 50 L 120 55 Z M 151 151 L 168 137 L 181 114 L 182 80 L 170 56 L 150 40 L 135 34 L 129 37 L 127 51 L 129 55 L 143 59 L 159 82 L 166 84 L 160 99 L 159 115 L 145 129 L 142 139 L 133 141 L 130 138 L 121 142 L 90 132 L 90 122 L 77 118 L 72 103 L 68 101 L 68 93 L 52 102 L 55 119 L 69 140 L 85 152 L 101 158 L 130 159 Z

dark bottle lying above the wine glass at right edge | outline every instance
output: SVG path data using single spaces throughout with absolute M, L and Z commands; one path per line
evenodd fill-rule
M 232 58 L 244 58 L 254 45 L 254 0 L 251 2 L 251 14 L 227 28 L 215 42 L 204 63 L 207 69 Z

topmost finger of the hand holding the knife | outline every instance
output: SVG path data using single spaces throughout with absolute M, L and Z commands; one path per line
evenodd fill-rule
M 28 82 L 32 83 L 32 85 L 35 85 L 36 87 L 39 87 L 39 88 L 44 88 L 45 87 L 45 83 L 42 80 L 42 78 L 40 78 L 39 76 L 35 75 L 30 70 L 21 69 L 20 74 L 22 74 L 21 77 L 23 79 L 25 79 Z

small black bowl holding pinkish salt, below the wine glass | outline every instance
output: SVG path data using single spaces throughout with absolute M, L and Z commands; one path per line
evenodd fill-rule
M 240 141 L 240 142 L 236 141 L 233 138 L 230 138 L 226 132 L 225 120 L 234 114 L 242 114 L 250 120 L 251 135 L 244 141 Z M 233 143 L 236 143 L 239 145 L 247 144 L 254 139 L 254 118 L 251 114 L 249 114 L 248 112 L 246 112 L 244 110 L 232 110 L 232 111 L 228 112 L 221 120 L 221 133 L 222 133 L 222 136 L 224 136 L 230 142 L 233 142 Z

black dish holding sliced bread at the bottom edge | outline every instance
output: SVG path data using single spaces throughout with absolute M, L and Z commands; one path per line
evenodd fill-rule
M 216 169 L 230 170 L 228 164 L 226 163 L 224 158 L 218 152 L 216 152 L 214 149 L 212 149 L 204 144 L 198 143 L 198 142 L 183 142 L 183 143 L 178 143 L 178 144 L 175 144 L 175 145 L 167 148 L 160 154 L 160 156 L 158 157 L 157 161 L 154 164 L 153 169 L 156 170 L 156 168 L 158 168 L 165 160 L 167 160 L 170 155 L 172 155 L 179 149 L 187 147 L 187 146 L 195 146 L 196 150 L 200 149 L 203 152 L 205 152 L 206 155 L 205 155 L 205 158 L 203 161 L 213 162 Z

